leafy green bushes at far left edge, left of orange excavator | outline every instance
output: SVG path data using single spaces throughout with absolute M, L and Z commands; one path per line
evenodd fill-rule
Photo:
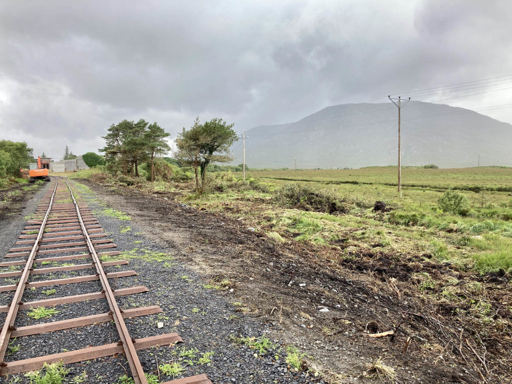
M 0 178 L 19 177 L 19 170 L 33 160 L 33 150 L 25 141 L 0 140 Z

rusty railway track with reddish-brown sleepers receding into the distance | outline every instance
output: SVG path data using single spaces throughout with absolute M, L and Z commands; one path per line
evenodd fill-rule
M 100 357 L 124 354 L 130 366 L 132 377 L 136 384 L 147 384 L 142 365 L 137 356 L 137 350 L 155 346 L 171 345 L 183 342 L 177 333 L 167 333 L 157 336 L 134 339 L 130 336 L 124 318 L 137 317 L 162 312 L 159 306 L 148 306 L 131 309 L 118 307 L 115 297 L 146 292 L 142 286 L 113 290 L 109 279 L 122 278 L 137 274 L 135 271 L 106 273 L 104 266 L 128 264 L 126 260 L 102 262 L 100 257 L 119 255 L 116 244 L 108 239 L 101 225 L 94 217 L 91 209 L 84 203 L 78 203 L 73 191 L 65 179 L 52 178 L 46 195 L 41 199 L 34 217 L 26 224 L 13 248 L 9 249 L 5 258 L 12 261 L 0 263 L 0 267 L 23 267 L 22 270 L 0 272 L 0 278 L 19 276 L 19 282 L 12 285 L 0 286 L 2 294 L 12 294 L 10 305 L 0 306 L 0 312 L 7 313 L 5 323 L 0 332 L 0 376 L 22 373 L 40 369 L 45 363 L 61 361 L 71 364 Z M 85 263 L 83 262 L 85 259 Z M 42 267 L 51 262 L 72 262 L 80 260 L 80 264 L 65 263 L 60 266 Z M 2 268 L 4 269 L 4 268 Z M 59 271 L 74 271 L 92 269 L 89 275 L 72 278 L 29 281 L 29 277 Z M 75 283 L 99 281 L 100 292 L 62 296 L 23 302 L 24 291 L 29 288 L 60 286 L 66 288 Z M 62 290 L 62 289 L 61 289 Z M 65 289 L 63 289 L 65 291 Z M 90 300 L 106 300 L 110 311 L 83 317 L 65 319 L 25 327 L 15 327 L 16 316 L 20 311 L 37 307 L 49 307 L 60 304 L 80 303 L 85 306 Z M 33 357 L 23 360 L 6 362 L 4 357 L 9 340 L 15 337 L 26 337 L 45 332 L 55 332 L 65 329 L 90 326 L 98 323 L 113 321 L 119 334 L 119 341 L 96 347 L 70 350 L 52 355 Z M 72 340 L 70 340 L 72 345 Z M 164 384 L 211 384 L 205 374 L 167 381 Z

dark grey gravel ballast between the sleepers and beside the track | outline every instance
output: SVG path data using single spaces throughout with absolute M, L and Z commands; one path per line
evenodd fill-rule
M 76 185 L 76 182 L 72 184 Z M 311 380 L 323 382 L 318 378 L 313 378 L 311 374 L 307 376 L 305 373 L 297 372 L 289 367 L 285 360 L 286 351 L 280 347 L 279 340 L 272 340 L 271 348 L 268 348 L 265 353 L 234 342 L 233 338 L 240 336 L 260 338 L 268 332 L 268 329 L 265 324 L 258 321 L 258 318 L 251 318 L 250 314 L 245 315 L 238 312 L 237 306 L 230 303 L 228 292 L 205 288 L 204 285 L 207 281 L 202 279 L 202 276 L 192 272 L 186 265 L 172 260 L 172 257 L 168 256 L 173 254 L 172 248 L 152 242 L 151 237 L 158 236 L 158 233 L 142 233 L 130 221 L 122 221 L 104 215 L 105 206 L 101 201 L 89 193 L 87 188 L 80 186 L 79 188 L 102 227 L 117 244 L 116 250 L 125 252 L 125 254 L 110 258 L 112 260 L 124 258 L 130 260 L 129 265 L 106 267 L 105 271 L 135 270 L 138 273 L 138 275 L 126 278 L 110 279 L 112 288 L 143 285 L 150 289 L 150 292 L 118 297 L 117 302 L 120 308 L 159 305 L 163 310 L 163 313 L 155 315 L 126 319 L 126 325 L 131 335 L 140 338 L 177 332 L 184 340 L 184 344 L 179 346 L 139 351 L 139 358 L 146 373 L 158 374 L 157 365 L 179 362 L 184 371 L 174 378 L 206 373 L 215 384 L 237 382 L 306 383 Z M 40 191 L 30 204 L 27 204 L 26 210 L 35 209 L 37 199 L 40 199 L 42 194 L 44 191 Z M 23 216 L 30 213 L 24 213 Z M 2 239 L 0 247 L 2 248 L 0 249 L 7 250 L 16 241 L 20 231 L 23 230 L 23 216 L 18 216 L 19 219 L 13 220 L 8 228 L 2 227 L 0 230 Z M 151 259 L 156 253 L 159 253 L 158 256 L 165 260 L 160 262 L 143 260 Z M 76 272 L 76 275 L 92 274 L 90 269 L 72 272 Z M 60 276 L 61 274 L 70 277 L 70 271 L 68 271 L 54 273 L 53 278 L 63 277 Z M 37 279 L 48 278 L 48 275 L 45 274 L 40 275 Z M 41 287 L 27 291 L 24 301 L 48 298 L 42 291 L 49 289 L 56 289 L 53 297 L 101 290 L 99 282 L 78 283 L 65 287 Z M 5 295 L 5 293 L 2 294 Z M 26 312 L 20 313 L 16 325 L 32 325 L 107 312 L 108 305 L 105 300 L 96 300 L 87 304 L 56 306 L 55 309 L 58 311 L 57 314 L 49 319 L 39 321 L 29 318 Z M 163 323 L 162 328 L 157 328 L 159 322 Z M 22 337 L 12 342 L 13 345 L 19 345 L 19 350 L 6 356 L 6 359 L 16 360 L 58 353 L 65 349 L 72 350 L 112 343 L 117 339 L 118 336 L 112 323 Z M 180 356 L 180 354 L 189 356 Z M 185 360 L 187 361 L 185 362 Z M 70 369 L 68 380 L 85 370 L 88 379 L 84 382 L 105 384 L 116 383 L 118 378 L 128 370 L 122 356 L 71 364 L 67 368 Z M 160 374 L 160 381 L 173 379 L 161 372 Z M 29 380 L 23 375 L 16 375 L 0 378 L 0 383 L 2 382 L 28 383 Z

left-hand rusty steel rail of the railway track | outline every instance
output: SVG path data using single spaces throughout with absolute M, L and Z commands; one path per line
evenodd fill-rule
M 25 287 L 28 283 L 28 278 L 30 275 L 30 271 L 32 269 L 32 265 L 34 264 L 34 259 L 39 249 L 39 245 L 41 243 L 42 234 L 45 230 L 45 225 L 50 215 L 50 210 L 53 205 L 53 198 L 55 197 L 55 192 L 57 190 L 58 180 L 55 179 L 55 187 L 53 188 L 53 193 L 50 198 L 50 202 L 48 204 L 48 209 L 46 210 L 45 218 L 42 220 L 41 226 L 39 227 L 39 232 L 37 233 L 37 238 L 35 240 L 34 245 L 32 246 L 32 250 L 30 251 L 29 257 L 27 259 L 27 264 L 25 264 L 25 268 L 23 269 L 22 276 L 19 279 L 16 291 L 14 292 L 11 305 L 9 307 L 9 311 L 7 312 L 7 316 L 5 319 L 4 326 L 2 327 L 2 331 L 0 332 L 0 361 L 2 365 L 5 365 L 4 357 L 7 351 L 7 346 L 9 345 L 9 339 L 11 336 L 11 332 L 14 330 L 14 321 L 16 319 L 16 314 L 18 313 L 19 305 L 22 301 L 23 292 L 25 291 Z

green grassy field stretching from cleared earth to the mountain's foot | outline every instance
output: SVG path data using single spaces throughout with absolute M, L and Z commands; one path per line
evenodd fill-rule
M 254 186 L 244 184 L 237 173 L 218 173 L 211 175 L 215 180 L 210 193 L 200 198 L 183 182 L 148 182 L 138 188 L 174 191 L 187 204 L 243 217 L 274 240 L 308 242 L 335 259 L 368 252 L 417 259 L 428 255 L 477 274 L 512 271 L 512 193 L 497 190 L 512 189 L 512 168 L 406 168 L 404 184 L 421 186 L 404 186 L 402 197 L 396 186 L 388 185 L 395 181 L 396 171 L 396 167 L 370 167 L 251 172 L 247 179 L 255 180 Z M 89 178 L 94 172 L 63 176 Z M 276 191 L 290 182 L 359 201 L 360 206 L 330 215 L 276 203 Z M 465 215 L 439 208 L 438 200 L 449 187 L 463 188 L 460 193 L 470 204 Z M 392 210 L 372 211 L 377 200 Z

